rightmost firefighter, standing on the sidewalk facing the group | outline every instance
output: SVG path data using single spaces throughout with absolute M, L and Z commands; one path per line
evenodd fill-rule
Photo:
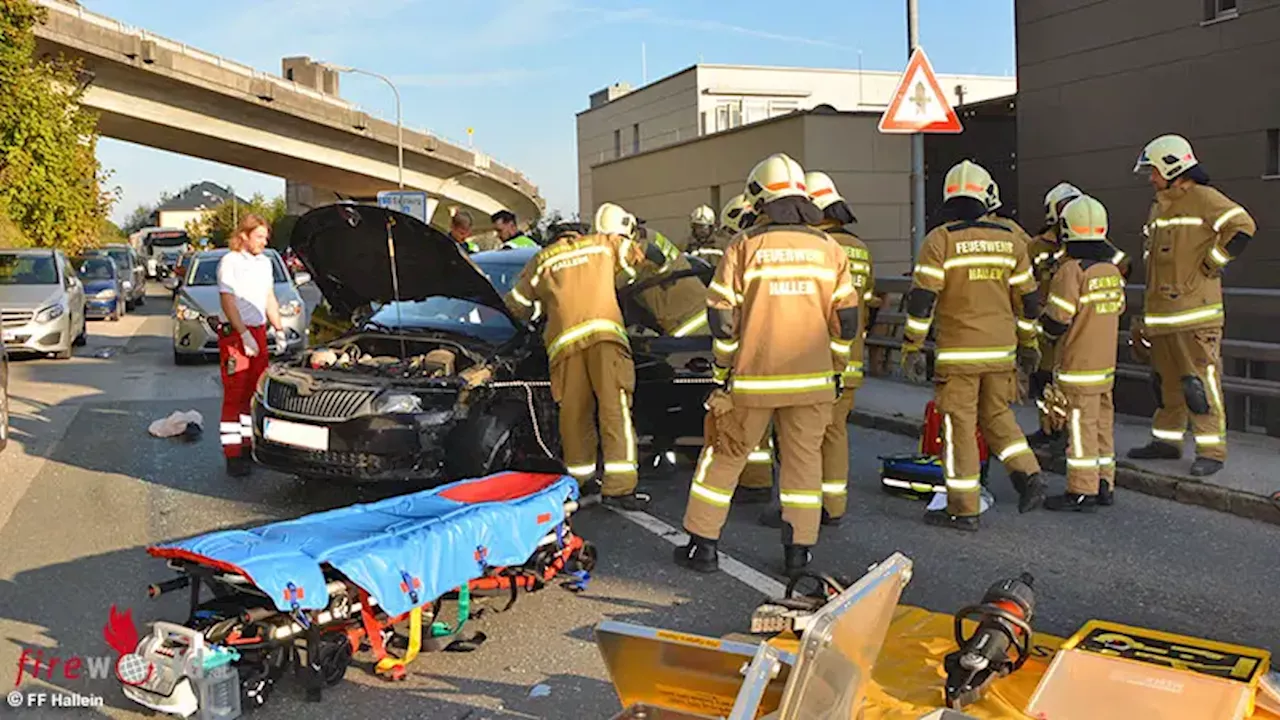
M 1207 477 L 1226 460 L 1222 405 L 1222 269 L 1257 232 L 1253 218 L 1216 188 L 1187 138 L 1160 136 L 1135 173 L 1148 173 L 1156 200 L 1143 233 L 1147 293 L 1143 333 L 1151 341 L 1156 415 L 1135 460 L 1183 455 L 1188 415 L 1196 437 L 1190 474 Z

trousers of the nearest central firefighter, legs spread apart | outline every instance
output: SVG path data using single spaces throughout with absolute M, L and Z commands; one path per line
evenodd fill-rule
M 812 546 L 822 521 L 822 436 L 831 424 L 831 405 L 733 407 L 714 418 L 713 441 L 698 456 L 689 488 L 685 529 L 719 538 L 728 506 L 746 466 L 751 446 L 773 421 L 778 434 L 778 498 L 782 502 L 782 543 Z

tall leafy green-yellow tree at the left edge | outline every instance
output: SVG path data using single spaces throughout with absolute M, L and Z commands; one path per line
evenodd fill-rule
M 97 240 L 115 201 L 95 155 L 97 118 L 81 106 L 79 68 L 36 58 L 47 10 L 0 0 L 0 205 L 37 247 L 76 251 Z

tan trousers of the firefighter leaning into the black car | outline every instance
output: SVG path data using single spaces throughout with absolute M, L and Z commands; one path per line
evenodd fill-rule
M 559 405 L 564 465 L 579 484 L 586 483 L 595 477 L 599 447 L 604 455 L 600 493 L 605 496 L 636 489 L 636 433 L 631 424 L 635 378 L 631 351 L 617 342 L 566 352 L 552 364 L 552 397 Z

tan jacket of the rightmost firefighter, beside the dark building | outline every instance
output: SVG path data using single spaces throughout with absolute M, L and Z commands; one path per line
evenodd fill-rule
M 1244 208 L 1216 188 L 1192 184 L 1157 192 L 1143 225 L 1147 337 L 1221 328 L 1221 269 L 1254 232 Z

